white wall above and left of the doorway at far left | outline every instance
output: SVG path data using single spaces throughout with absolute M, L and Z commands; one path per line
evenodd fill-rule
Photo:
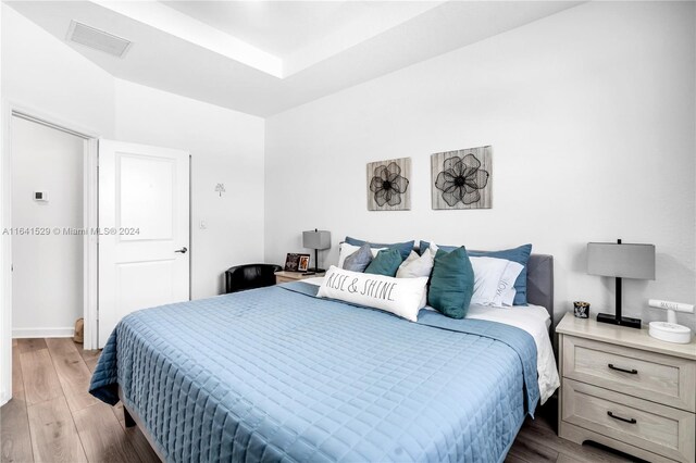
M 72 128 L 104 137 L 113 136 L 113 77 L 77 52 L 55 40 L 50 34 L 20 15 L 12 8 L 0 5 L 0 98 L 30 111 L 34 115 L 60 120 Z M 3 111 L 4 111 L 3 105 Z M 1 142 L 3 154 L 9 137 L 7 114 L 2 114 Z M 2 160 L 2 203 L 9 199 L 9 166 Z M 0 227 L 10 225 L 10 208 L 3 208 Z M 2 278 L 10 281 L 10 239 L 2 239 Z M 2 296 L 2 397 L 11 392 L 10 291 Z

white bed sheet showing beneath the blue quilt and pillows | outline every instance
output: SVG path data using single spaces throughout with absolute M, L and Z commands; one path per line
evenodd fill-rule
M 306 278 L 302 281 L 321 286 L 324 277 Z M 425 306 L 427 310 L 435 310 Z M 556 367 L 556 358 L 548 328 L 551 317 L 546 309 L 540 305 L 517 305 L 511 308 L 492 308 L 487 305 L 472 304 L 469 308 L 467 318 L 487 320 L 489 322 L 504 323 L 515 326 L 529 333 L 536 343 L 536 370 L 538 373 L 539 396 L 544 404 L 554 391 L 561 385 Z

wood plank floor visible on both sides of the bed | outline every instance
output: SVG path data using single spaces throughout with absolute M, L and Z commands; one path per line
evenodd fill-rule
M 99 351 L 71 339 L 18 339 L 12 345 L 12 400 L 0 409 L 1 462 L 159 462 L 123 406 L 87 392 Z M 549 420 L 548 416 L 551 418 Z M 556 436 L 552 410 L 522 426 L 508 463 L 629 462 L 625 455 Z

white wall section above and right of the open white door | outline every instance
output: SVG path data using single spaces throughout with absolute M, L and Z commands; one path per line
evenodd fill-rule
M 263 120 L 120 79 L 115 111 L 117 139 L 190 152 L 191 297 L 224 292 L 225 270 L 263 262 Z

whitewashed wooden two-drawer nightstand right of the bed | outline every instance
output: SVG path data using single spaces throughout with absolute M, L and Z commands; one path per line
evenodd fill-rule
M 648 461 L 695 461 L 696 341 L 664 342 L 570 313 L 556 333 L 560 437 Z

